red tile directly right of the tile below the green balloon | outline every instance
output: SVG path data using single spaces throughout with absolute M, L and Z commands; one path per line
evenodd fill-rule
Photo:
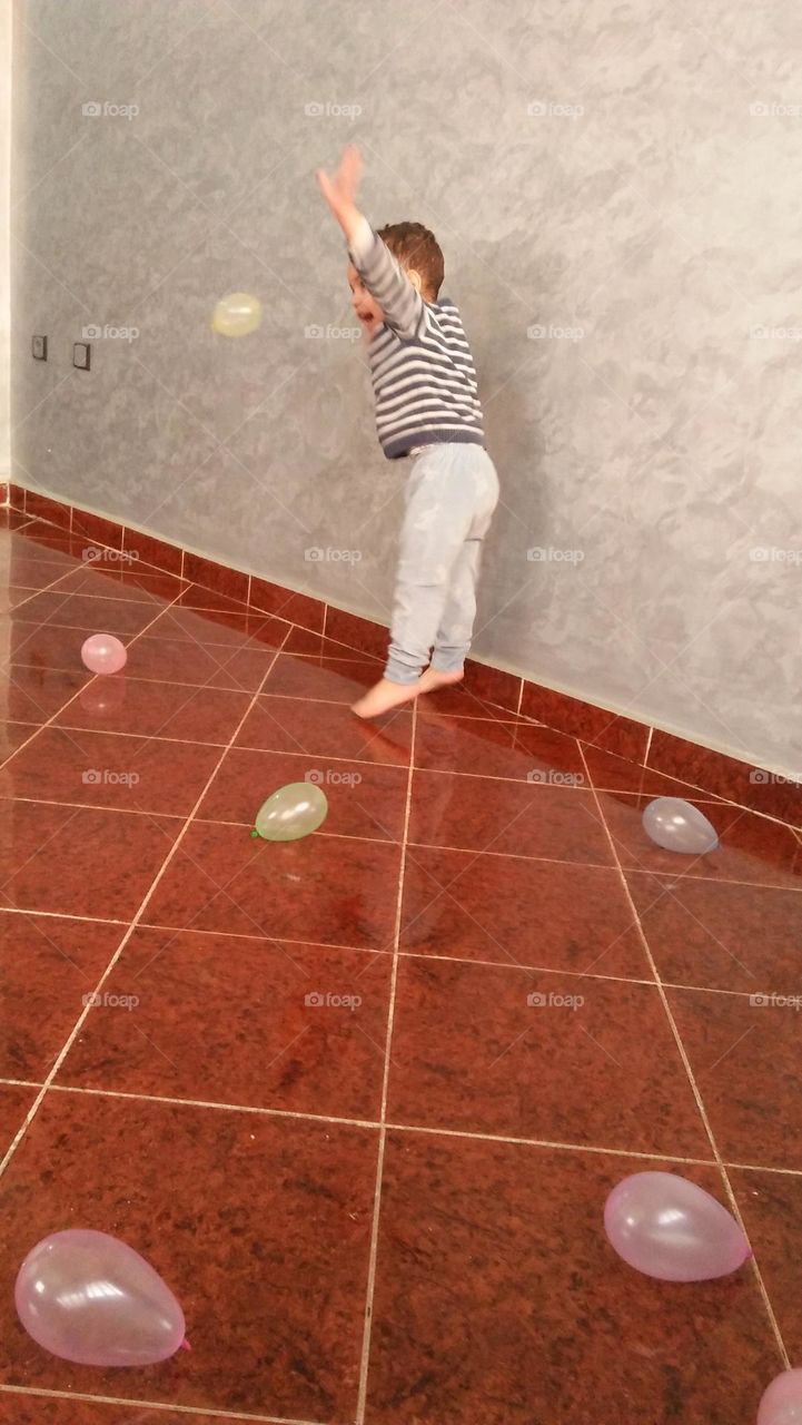
M 621 876 L 409 846 L 400 946 L 423 955 L 652 979 Z

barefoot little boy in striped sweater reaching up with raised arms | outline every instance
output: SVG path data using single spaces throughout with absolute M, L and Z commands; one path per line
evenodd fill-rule
M 437 301 L 443 254 L 417 222 L 373 232 L 356 207 L 360 171 L 349 145 L 335 177 L 321 170 L 318 181 L 348 242 L 382 449 L 389 460 L 413 457 L 385 677 L 352 708 L 369 718 L 463 677 L 499 479 L 460 315 Z

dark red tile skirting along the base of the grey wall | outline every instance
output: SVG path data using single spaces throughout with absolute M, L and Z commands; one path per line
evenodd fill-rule
M 97 544 L 120 551 L 135 551 L 145 564 L 288 618 L 313 633 L 325 633 L 328 638 L 350 648 L 376 657 L 383 657 L 386 653 L 385 626 L 322 603 L 311 594 L 296 593 L 256 574 L 229 569 L 152 534 L 128 529 L 91 510 L 64 504 L 17 484 L 0 487 L 0 500 L 31 517 L 47 520 L 73 534 L 85 536 Z M 484 663 L 467 661 L 464 688 L 486 703 L 568 732 L 591 747 L 627 758 L 652 772 L 688 782 L 701 792 L 722 797 L 725 801 L 792 826 L 802 826 L 802 779 L 795 781 L 715 748 L 699 747 L 662 728 L 647 727 L 620 712 Z

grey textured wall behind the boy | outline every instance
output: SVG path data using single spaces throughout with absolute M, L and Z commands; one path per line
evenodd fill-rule
M 14 17 L 20 483 L 386 620 L 403 465 L 336 335 L 313 181 L 355 138 L 365 211 L 436 231 L 474 346 L 503 483 L 477 656 L 802 770 L 795 0 Z M 235 289 L 265 319 L 226 341 L 209 315 Z M 84 376 L 88 323 L 138 336 Z

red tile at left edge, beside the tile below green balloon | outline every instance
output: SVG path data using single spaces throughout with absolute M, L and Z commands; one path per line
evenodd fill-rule
M 181 825 L 178 818 L 0 799 L 0 905 L 131 916 Z

